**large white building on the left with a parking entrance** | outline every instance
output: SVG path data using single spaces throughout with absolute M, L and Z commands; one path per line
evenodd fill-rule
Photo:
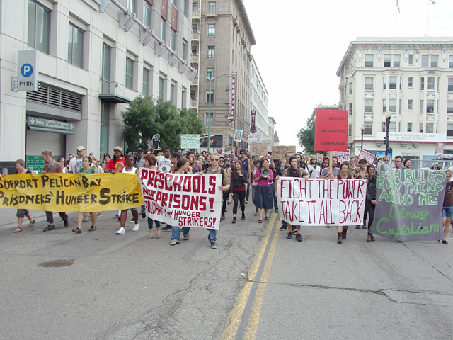
M 121 112 L 141 94 L 189 107 L 190 0 L 0 6 L 0 165 L 45 149 L 67 157 L 78 145 L 112 153 L 123 145 Z M 21 50 L 38 51 L 39 91 L 15 91 Z

